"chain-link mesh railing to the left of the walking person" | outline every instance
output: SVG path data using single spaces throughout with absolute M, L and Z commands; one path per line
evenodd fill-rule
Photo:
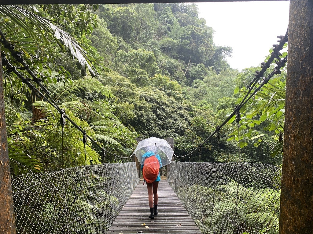
M 139 183 L 135 163 L 12 178 L 18 234 L 104 234 Z

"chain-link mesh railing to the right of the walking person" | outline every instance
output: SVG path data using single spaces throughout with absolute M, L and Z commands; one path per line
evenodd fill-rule
M 278 234 L 278 166 L 172 162 L 168 182 L 203 234 Z

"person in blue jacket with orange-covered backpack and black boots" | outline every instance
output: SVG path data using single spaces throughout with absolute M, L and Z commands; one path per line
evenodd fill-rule
M 144 183 L 146 181 L 148 189 L 148 201 L 150 207 L 149 218 L 154 219 L 159 212 L 157 211 L 158 193 L 157 189 L 159 186 L 160 168 L 162 167 L 161 158 L 158 154 L 153 151 L 148 151 L 144 155 L 143 165 L 141 165 L 142 175 L 144 178 Z M 153 207 L 154 200 L 154 207 Z

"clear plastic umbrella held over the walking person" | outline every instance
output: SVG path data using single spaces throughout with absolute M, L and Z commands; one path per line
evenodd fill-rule
M 166 140 L 156 137 L 141 140 L 139 141 L 134 154 L 138 158 L 138 161 L 143 164 L 145 156 L 142 156 L 150 151 L 160 156 L 162 167 L 171 163 L 174 151 Z

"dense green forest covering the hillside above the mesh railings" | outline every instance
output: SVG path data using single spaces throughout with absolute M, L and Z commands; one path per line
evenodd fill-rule
M 217 46 L 210 22 L 198 15 L 196 4 L 183 3 L 0 6 L 0 29 L 66 115 L 105 150 L 128 157 L 136 138 L 173 137 L 175 154 L 184 155 L 234 110 L 259 69 L 232 69 L 231 47 Z M 67 122 L 62 140 L 59 112 L 5 64 L 3 71 L 12 173 L 85 165 L 83 135 Z M 285 71 L 241 110 L 239 137 L 233 118 L 219 142 L 180 160 L 238 161 L 240 138 L 241 160 L 280 165 L 284 109 Z M 87 141 L 87 164 L 114 162 L 113 154 Z

